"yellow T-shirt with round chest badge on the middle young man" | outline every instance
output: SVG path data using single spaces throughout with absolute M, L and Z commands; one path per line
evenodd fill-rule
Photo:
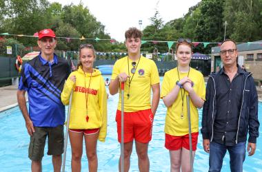
M 129 61 L 129 72 L 128 72 Z M 151 85 L 159 83 L 159 72 L 154 61 L 140 57 L 136 61 L 137 69 L 134 75 L 131 73 L 132 60 L 125 56 L 114 63 L 111 79 L 117 78 L 120 73 L 130 75 L 124 85 L 124 111 L 140 111 L 151 108 L 150 94 Z M 130 86 L 129 86 L 130 85 Z M 119 88 L 121 88 L 119 83 Z M 128 94 L 130 95 L 128 98 Z M 119 89 L 119 104 L 117 109 L 121 110 L 121 89 Z

